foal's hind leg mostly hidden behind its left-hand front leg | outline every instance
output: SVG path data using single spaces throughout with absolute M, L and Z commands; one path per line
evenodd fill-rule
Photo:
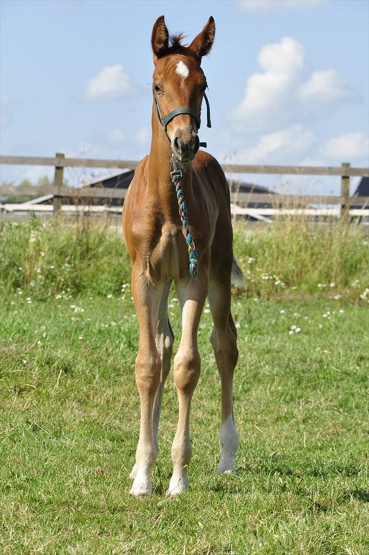
M 164 285 L 164 290 L 163 290 L 163 294 L 162 294 L 162 298 L 159 306 L 158 326 L 157 326 L 156 338 L 155 338 L 156 348 L 158 350 L 159 357 L 161 358 L 161 361 L 162 361 L 160 381 L 156 391 L 156 395 L 154 399 L 154 407 L 152 412 L 154 445 L 157 453 L 159 451 L 158 428 L 159 428 L 164 383 L 169 374 L 169 370 L 171 369 L 171 357 L 172 357 L 173 341 L 174 341 L 173 331 L 168 319 L 168 295 L 169 295 L 169 290 L 171 288 L 171 284 L 172 284 L 172 280 L 169 280 Z M 137 464 L 135 464 L 134 467 L 132 468 L 132 471 L 129 474 L 129 477 L 132 478 L 133 480 L 133 478 L 136 477 L 136 473 L 137 473 Z

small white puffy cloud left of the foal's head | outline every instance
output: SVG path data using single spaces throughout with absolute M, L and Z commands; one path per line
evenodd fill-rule
M 122 64 L 107 65 L 96 77 L 89 79 L 82 95 L 83 100 L 109 100 L 121 98 L 132 92 L 129 75 Z

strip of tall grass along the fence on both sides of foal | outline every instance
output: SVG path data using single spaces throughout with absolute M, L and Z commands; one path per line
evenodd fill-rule
M 91 292 L 119 294 L 131 263 L 121 233 L 89 218 L 3 223 L 1 293 L 39 299 Z M 360 300 L 368 286 L 368 238 L 362 226 L 303 221 L 235 223 L 235 254 L 248 296 L 328 295 Z M 364 300 L 366 300 L 364 298 Z

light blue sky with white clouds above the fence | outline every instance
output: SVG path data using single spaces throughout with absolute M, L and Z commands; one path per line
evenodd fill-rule
M 2 154 L 139 159 L 148 153 L 154 21 L 188 42 L 208 17 L 202 67 L 220 162 L 368 165 L 367 0 L 1 1 Z M 94 170 L 96 173 L 96 170 Z M 2 166 L 1 179 L 52 170 Z M 87 170 L 87 175 L 89 171 Z M 81 173 L 68 170 L 71 183 Z M 277 177 L 250 176 L 256 183 Z M 293 178 L 305 190 L 339 180 Z

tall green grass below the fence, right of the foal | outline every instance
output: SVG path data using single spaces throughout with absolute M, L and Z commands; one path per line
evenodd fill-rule
M 328 292 L 347 300 L 368 286 L 368 236 L 362 226 L 276 220 L 245 235 L 235 225 L 235 251 L 250 295 Z

